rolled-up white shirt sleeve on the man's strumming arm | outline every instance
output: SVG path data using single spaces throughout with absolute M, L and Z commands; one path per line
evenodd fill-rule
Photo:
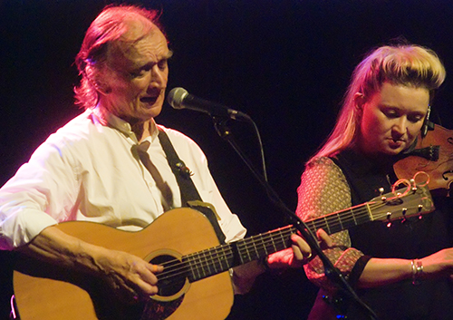
M 70 194 L 75 180 L 59 148 L 38 148 L 0 189 L 0 249 L 23 246 L 66 217 L 74 202 Z

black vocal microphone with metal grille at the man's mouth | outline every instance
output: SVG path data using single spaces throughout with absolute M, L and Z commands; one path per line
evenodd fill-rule
M 208 102 L 207 100 L 197 98 L 183 88 L 172 89 L 167 97 L 167 102 L 169 102 L 174 109 L 188 109 L 196 112 L 205 112 L 211 117 L 250 120 L 250 117 L 246 115 L 246 113 L 238 112 L 216 102 Z

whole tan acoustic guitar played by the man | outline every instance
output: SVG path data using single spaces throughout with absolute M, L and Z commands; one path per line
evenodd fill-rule
M 428 188 L 404 190 L 305 223 L 313 232 L 323 228 L 332 234 L 368 221 L 390 223 L 434 209 Z M 20 257 L 14 267 L 14 295 L 22 320 L 225 319 L 233 305 L 227 270 L 291 247 L 290 236 L 297 232 L 287 226 L 219 245 L 207 218 L 191 208 L 170 210 L 138 232 L 78 221 L 57 228 L 163 265 L 159 294 L 143 303 L 124 304 L 96 277 Z

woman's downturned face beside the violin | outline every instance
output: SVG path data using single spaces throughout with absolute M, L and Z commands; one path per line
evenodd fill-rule
M 384 82 L 371 97 L 356 96 L 361 109 L 359 148 L 368 155 L 396 155 L 415 140 L 429 107 L 429 91 Z

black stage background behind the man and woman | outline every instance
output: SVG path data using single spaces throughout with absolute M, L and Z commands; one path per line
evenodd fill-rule
M 0 2 L 0 185 L 33 150 L 81 111 L 73 106 L 72 64 L 101 0 Z M 161 11 L 174 57 L 169 89 L 246 112 L 263 140 L 270 185 L 294 210 L 304 161 L 333 127 L 353 67 L 371 48 L 405 38 L 439 53 L 447 81 L 433 119 L 453 128 L 453 3 L 419 0 L 130 1 Z M 166 103 L 157 121 L 186 133 L 207 154 L 226 202 L 249 235 L 284 226 L 284 213 L 206 114 Z M 231 135 L 260 170 L 251 126 Z M 315 287 L 301 270 L 263 276 L 236 299 L 231 318 L 304 318 Z

